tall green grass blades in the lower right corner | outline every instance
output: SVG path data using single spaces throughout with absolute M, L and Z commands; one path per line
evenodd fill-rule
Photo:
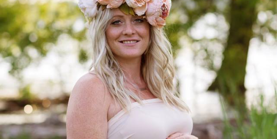
M 241 119 L 240 114 L 236 113 L 236 123 L 231 125 L 228 121 L 225 104 L 222 102 L 224 112 L 224 138 L 233 139 L 276 139 L 277 138 L 277 113 L 269 112 L 264 106 L 263 96 L 260 97 L 260 105 L 251 107 L 248 111 L 248 120 Z M 239 107 L 239 106 L 238 106 Z M 277 107 L 277 95 L 275 95 L 275 107 Z

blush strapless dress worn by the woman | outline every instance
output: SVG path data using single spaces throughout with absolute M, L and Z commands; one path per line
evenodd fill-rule
M 170 108 L 161 99 L 131 104 L 131 112 L 121 110 L 108 121 L 108 139 L 165 139 L 175 132 L 191 134 L 188 112 Z

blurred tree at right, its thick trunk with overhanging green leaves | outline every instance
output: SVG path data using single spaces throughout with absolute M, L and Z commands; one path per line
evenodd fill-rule
M 220 38 L 211 39 L 225 46 L 223 61 L 220 69 L 213 65 L 211 54 L 205 52 L 207 67 L 217 72 L 217 77 L 209 86 L 208 90 L 218 90 L 230 104 L 239 103 L 242 111 L 245 110 L 245 68 L 249 41 L 251 38 L 260 38 L 265 41 L 265 35 L 271 34 L 276 38 L 276 20 L 268 18 L 264 23 L 256 20 L 258 12 L 265 11 L 272 15 L 276 14 L 276 0 L 172 0 L 171 17 L 168 21 L 168 36 L 173 44 L 174 52 L 180 49 L 178 44 L 181 36 L 186 36 L 190 42 L 202 40 L 190 36 L 189 30 L 197 20 L 207 13 L 224 15 L 229 23 L 229 34 L 226 40 Z M 176 16 L 176 20 L 172 16 Z M 185 20 L 184 20 L 185 15 Z M 277 17 L 277 15 L 275 15 Z M 272 17 L 271 17 L 272 18 Z M 172 21 L 173 20 L 173 21 Z M 204 38 L 206 39 L 206 38 Z M 204 40 L 203 39 L 203 40 Z M 207 42 L 207 41 L 205 41 Z M 208 44 L 203 44 L 208 45 Z M 203 48 L 204 49 L 204 48 Z M 197 54 L 196 54 L 197 55 Z

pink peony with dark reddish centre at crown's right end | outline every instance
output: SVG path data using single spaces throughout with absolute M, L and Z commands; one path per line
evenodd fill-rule
M 146 18 L 150 25 L 162 28 L 165 26 L 166 17 L 169 15 L 171 0 L 151 0 L 148 2 Z

